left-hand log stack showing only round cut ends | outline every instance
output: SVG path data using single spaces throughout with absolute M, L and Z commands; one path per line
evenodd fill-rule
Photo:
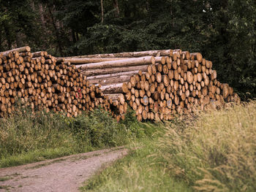
M 89 85 L 80 69 L 45 51 L 31 53 L 29 46 L 0 53 L 1 117 L 15 111 L 17 99 L 32 110 L 64 112 L 68 117 L 97 106 L 112 113 L 116 110 L 99 86 Z

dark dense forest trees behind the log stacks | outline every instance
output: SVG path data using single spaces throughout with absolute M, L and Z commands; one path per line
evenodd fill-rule
M 256 97 L 255 0 L 0 0 L 0 51 L 203 53 L 242 99 Z

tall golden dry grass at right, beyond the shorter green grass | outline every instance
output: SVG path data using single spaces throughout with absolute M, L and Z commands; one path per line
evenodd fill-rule
M 162 158 L 196 191 L 256 191 L 256 101 L 167 126 Z

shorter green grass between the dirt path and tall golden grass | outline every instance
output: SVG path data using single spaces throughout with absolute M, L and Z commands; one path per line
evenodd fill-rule
M 92 177 L 80 190 L 192 191 L 187 183 L 170 177 L 166 162 L 159 158 L 159 134 L 133 142 L 126 157 Z

